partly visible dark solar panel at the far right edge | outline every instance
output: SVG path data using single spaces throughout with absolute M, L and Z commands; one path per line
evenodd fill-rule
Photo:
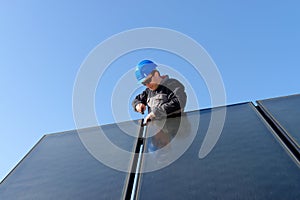
M 300 151 L 300 95 L 257 101 L 286 137 Z

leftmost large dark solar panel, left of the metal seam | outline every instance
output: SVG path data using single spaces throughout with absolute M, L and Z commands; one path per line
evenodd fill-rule
M 132 122 L 102 128 L 113 143 L 132 151 L 136 138 L 124 133 L 118 125 L 128 128 L 131 134 L 138 133 Z M 98 128 L 83 129 L 81 134 L 94 140 Z M 103 145 L 101 141 L 93 144 Z M 125 167 L 130 167 L 131 159 L 126 158 Z M 120 199 L 127 175 L 95 159 L 76 131 L 49 134 L 1 183 L 0 199 Z

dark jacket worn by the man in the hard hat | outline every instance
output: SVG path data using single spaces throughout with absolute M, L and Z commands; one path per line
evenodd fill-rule
M 165 76 L 154 91 L 146 88 L 132 102 L 135 107 L 143 103 L 148 107 L 148 113 L 153 112 L 156 118 L 180 115 L 186 104 L 184 86 L 176 79 Z

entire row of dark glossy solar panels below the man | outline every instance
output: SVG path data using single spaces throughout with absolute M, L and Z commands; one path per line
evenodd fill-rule
M 138 153 L 125 158 L 128 172 L 93 157 L 76 130 L 49 134 L 1 182 L 0 199 L 300 199 L 299 103 L 293 95 L 257 107 L 187 112 L 147 127 L 101 126 L 113 144 Z M 222 111 L 224 124 L 214 124 L 222 131 L 209 137 Z M 97 135 L 97 128 L 83 134 Z

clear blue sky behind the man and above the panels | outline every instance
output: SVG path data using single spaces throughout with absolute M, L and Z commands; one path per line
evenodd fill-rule
M 234 104 L 300 93 L 299 21 L 296 0 L 0 0 L 0 180 L 44 134 L 75 129 L 76 75 L 109 37 L 142 27 L 191 37 L 215 62 L 227 104 Z M 113 88 L 122 73 L 145 58 L 173 67 L 192 85 L 199 105 L 189 102 L 187 110 L 210 107 L 205 83 L 189 63 L 168 52 L 141 50 L 114 61 L 99 82 L 99 124 L 118 121 L 111 108 Z M 130 100 L 142 88 L 125 89 L 132 95 L 125 99 L 129 117 L 122 120 L 141 118 L 130 110 Z

